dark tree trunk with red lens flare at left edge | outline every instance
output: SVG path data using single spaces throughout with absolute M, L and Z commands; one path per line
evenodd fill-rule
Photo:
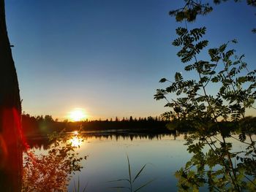
M 21 191 L 22 139 L 18 77 L 0 0 L 0 191 Z

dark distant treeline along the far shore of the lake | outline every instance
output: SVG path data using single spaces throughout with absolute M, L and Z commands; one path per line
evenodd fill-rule
M 207 121 L 206 121 L 207 122 Z M 166 121 L 159 117 L 148 118 L 116 118 L 115 120 L 85 120 L 80 122 L 62 122 L 53 120 L 51 115 L 31 116 L 29 114 L 22 115 L 23 131 L 26 136 L 29 135 L 47 135 L 53 131 L 133 131 L 137 133 L 153 133 L 165 134 L 173 131 L 187 132 L 195 131 L 194 123 L 189 120 L 173 120 Z M 219 131 L 221 133 L 243 132 L 244 128 L 249 128 L 250 132 L 256 134 L 256 117 L 246 117 L 244 120 L 236 122 L 223 121 L 219 123 L 217 130 L 216 123 L 207 122 L 206 131 Z M 212 124 L 213 126 L 211 126 Z M 246 124 L 246 126 L 244 126 Z

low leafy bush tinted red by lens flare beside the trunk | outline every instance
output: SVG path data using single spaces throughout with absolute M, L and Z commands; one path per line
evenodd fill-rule
M 75 147 L 67 142 L 70 136 L 64 132 L 50 135 L 53 145 L 48 154 L 37 155 L 26 151 L 23 162 L 23 191 L 67 191 L 72 172 L 83 167 L 80 161 L 86 157 L 78 157 Z M 78 184 L 79 185 L 79 184 Z

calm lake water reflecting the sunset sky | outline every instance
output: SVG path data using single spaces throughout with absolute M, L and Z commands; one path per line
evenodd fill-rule
M 133 185 L 134 190 L 140 185 L 153 180 L 140 191 L 177 191 L 176 170 L 184 166 L 192 156 L 184 145 L 184 134 L 86 134 L 80 148 L 76 151 L 80 156 L 88 155 L 82 162 L 83 169 L 72 174 L 68 190 L 73 191 L 78 180 L 80 188 L 86 191 L 128 191 L 118 186 L 128 187 L 124 181 L 110 182 L 119 179 L 128 179 L 129 156 L 132 177 L 140 171 L 142 174 Z M 241 143 L 235 142 L 234 147 L 241 148 Z M 36 153 L 45 153 L 46 148 L 37 148 Z M 207 191 L 201 188 L 200 191 Z M 81 190 L 83 191 L 83 190 Z

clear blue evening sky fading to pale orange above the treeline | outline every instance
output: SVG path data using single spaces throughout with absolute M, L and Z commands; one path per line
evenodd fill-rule
M 80 108 L 89 119 L 147 117 L 165 112 L 155 101 L 162 77 L 184 72 L 171 45 L 176 23 L 168 12 L 181 0 L 8 0 L 7 30 L 23 111 L 64 120 Z M 256 9 L 223 3 L 188 27 L 206 26 L 211 47 L 238 39 L 256 69 Z M 189 77 L 189 75 L 188 75 Z M 253 112 L 251 112 L 252 114 Z

